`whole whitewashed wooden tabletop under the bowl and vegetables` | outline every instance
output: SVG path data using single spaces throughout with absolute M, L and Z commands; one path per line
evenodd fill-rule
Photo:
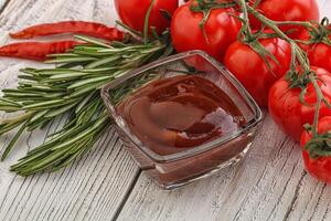
M 331 1 L 319 3 L 331 17 Z M 116 17 L 111 0 L 0 0 L 0 44 L 11 41 L 9 31 L 31 24 L 71 19 L 111 24 Z M 19 69 L 41 66 L 0 61 L 0 88 L 15 85 Z M 9 172 L 57 126 L 26 134 L 0 164 L 0 220 L 331 220 L 331 187 L 307 175 L 298 145 L 269 116 L 241 165 L 174 191 L 159 189 L 139 170 L 114 129 L 56 173 L 22 178 Z M 9 138 L 1 137 L 1 147 Z

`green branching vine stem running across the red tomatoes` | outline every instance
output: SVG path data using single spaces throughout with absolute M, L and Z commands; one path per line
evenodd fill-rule
M 201 22 L 201 27 L 203 28 L 211 10 L 217 8 L 234 7 L 234 4 L 238 6 L 243 12 L 243 18 L 239 18 L 243 23 L 243 28 L 238 34 L 238 39 L 242 42 L 249 44 L 249 46 L 260 55 L 260 57 L 265 61 L 267 65 L 268 65 L 267 57 L 273 60 L 276 59 L 266 49 L 264 49 L 264 46 L 258 42 L 259 34 L 263 33 L 265 28 L 269 28 L 275 32 L 273 33 L 274 35 L 277 35 L 278 38 L 290 43 L 292 50 L 291 66 L 286 75 L 286 80 L 289 83 L 289 87 L 301 90 L 300 102 L 305 105 L 309 105 L 305 101 L 305 95 L 307 93 L 308 84 L 310 83 L 312 84 L 317 95 L 317 102 L 314 104 L 316 110 L 314 110 L 313 124 L 305 125 L 305 128 L 312 133 L 313 138 L 306 144 L 305 148 L 309 151 L 311 157 L 314 158 L 319 156 L 325 156 L 325 155 L 331 156 L 331 131 L 325 134 L 318 133 L 318 124 L 319 124 L 321 105 L 323 103 L 331 108 L 331 104 L 325 98 L 325 96 L 321 91 L 321 87 L 319 85 L 321 80 L 319 80 L 317 73 L 311 71 L 310 62 L 307 57 L 307 54 L 302 49 L 300 49 L 298 44 L 298 43 L 314 44 L 314 43 L 322 42 L 328 45 L 331 45 L 331 40 L 329 39 L 329 35 L 331 34 L 331 30 L 329 29 L 329 19 L 324 18 L 321 24 L 318 24 L 317 22 L 306 22 L 306 21 L 274 21 L 271 19 L 268 19 L 267 17 L 265 17 L 264 14 L 261 14 L 259 11 L 255 9 L 255 7 L 258 3 L 259 1 L 255 1 L 253 6 L 249 6 L 249 2 L 247 2 L 246 0 L 234 0 L 229 2 L 217 2 L 215 0 L 196 0 L 196 3 L 191 6 L 191 10 L 193 12 L 204 13 L 204 19 Z M 261 30 L 259 30 L 256 33 L 252 32 L 248 14 L 255 17 L 263 24 Z M 286 32 L 280 30 L 279 25 L 285 25 L 285 24 L 290 24 L 290 25 L 295 24 L 295 25 L 303 27 L 310 32 L 310 34 L 313 38 L 308 42 L 296 41 L 289 38 Z M 323 84 L 323 82 L 321 83 Z

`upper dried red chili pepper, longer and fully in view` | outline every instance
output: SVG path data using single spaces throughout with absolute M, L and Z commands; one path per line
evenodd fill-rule
M 122 41 L 125 33 L 116 28 L 109 28 L 102 23 L 85 21 L 62 21 L 29 27 L 17 33 L 10 33 L 13 39 L 32 39 L 53 34 L 75 33 L 86 34 L 108 41 Z

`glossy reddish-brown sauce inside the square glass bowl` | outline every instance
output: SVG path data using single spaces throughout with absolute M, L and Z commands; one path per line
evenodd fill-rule
M 225 92 L 194 75 L 151 82 L 121 102 L 117 112 L 142 144 L 159 155 L 200 146 L 245 124 Z

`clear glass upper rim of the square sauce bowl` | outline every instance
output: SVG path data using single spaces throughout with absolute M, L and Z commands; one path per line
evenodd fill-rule
M 196 146 L 196 147 L 193 147 L 193 148 L 180 151 L 180 152 L 162 156 L 162 155 L 159 155 L 159 154 L 152 151 L 147 146 L 142 145 L 142 143 L 139 140 L 139 138 L 137 138 L 136 136 L 132 136 L 132 133 L 128 127 L 124 128 L 122 126 L 120 126 L 119 120 L 121 120 L 122 123 L 125 120 L 122 119 L 121 116 L 119 116 L 116 113 L 116 107 L 111 103 L 109 91 L 113 88 L 116 88 L 121 83 L 124 83 L 135 76 L 146 73 L 149 70 L 156 69 L 160 65 L 175 62 L 178 60 L 193 56 L 193 55 L 202 56 L 207 62 L 210 62 L 217 71 L 220 71 L 222 74 L 224 74 L 225 77 L 231 82 L 231 84 L 233 84 L 234 87 L 238 91 L 239 95 L 245 99 L 247 105 L 250 107 L 252 112 L 254 112 L 255 116 L 253 119 L 247 122 L 245 124 L 245 126 L 241 127 L 239 129 L 237 129 L 233 133 L 229 133 L 227 135 L 221 136 L 220 138 L 213 139 L 209 143 L 205 143 L 203 145 L 200 145 L 200 146 Z M 249 129 L 256 127 L 263 119 L 261 109 L 259 108 L 257 103 L 254 101 L 252 95 L 247 92 L 247 90 L 241 84 L 241 82 L 224 65 L 222 65 L 216 60 L 214 60 L 213 57 L 207 55 L 205 52 L 200 51 L 200 50 L 193 50 L 193 51 L 171 55 L 171 56 L 168 56 L 164 59 L 160 59 L 156 62 L 149 63 L 147 65 L 143 65 L 141 67 L 138 67 L 136 70 L 132 70 L 132 71 L 128 72 L 127 74 L 114 80 L 111 83 L 105 85 L 100 91 L 100 95 L 102 95 L 104 104 L 108 110 L 108 114 L 110 115 L 110 117 L 113 117 L 116 125 L 124 131 L 126 137 L 131 143 L 134 143 L 143 154 L 146 154 L 151 160 L 157 161 L 157 162 L 172 162 L 172 161 L 177 161 L 177 160 L 182 160 L 182 159 L 186 159 L 186 158 L 190 158 L 190 157 L 193 157 L 196 155 L 201 155 L 205 151 L 212 150 L 217 147 L 220 148 L 220 146 L 223 146 L 223 145 L 232 141 L 233 139 L 236 139 L 237 137 L 244 135 Z

